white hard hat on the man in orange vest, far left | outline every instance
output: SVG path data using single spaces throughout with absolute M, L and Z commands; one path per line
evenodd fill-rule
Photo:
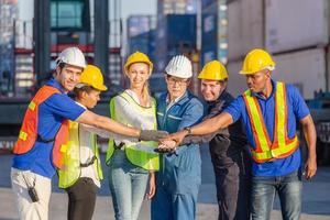
M 78 47 L 67 47 L 56 58 L 56 65 L 61 63 L 69 64 L 73 66 L 86 67 L 86 61 L 82 52 Z

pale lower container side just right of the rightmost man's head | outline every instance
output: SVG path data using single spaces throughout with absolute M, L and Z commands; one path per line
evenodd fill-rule
M 305 99 L 314 98 L 315 91 L 326 90 L 324 48 L 282 54 L 274 59 L 273 78 L 295 85 Z

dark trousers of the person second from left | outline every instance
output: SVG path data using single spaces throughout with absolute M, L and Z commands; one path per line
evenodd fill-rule
M 68 195 L 68 220 L 90 220 L 95 209 L 97 186 L 91 178 L 80 177 L 66 188 Z

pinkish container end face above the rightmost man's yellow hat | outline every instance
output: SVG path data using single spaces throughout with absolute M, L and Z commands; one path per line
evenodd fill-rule
M 228 59 L 239 61 L 254 47 L 264 47 L 263 0 L 228 3 Z

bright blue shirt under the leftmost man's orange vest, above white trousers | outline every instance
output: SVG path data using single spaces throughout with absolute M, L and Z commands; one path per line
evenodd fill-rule
M 85 109 L 64 92 L 57 80 L 51 79 L 46 85 L 55 87 L 62 92 L 52 95 L 38 107 L 37 133 L 44 140 L 50 140 L 55 138 L 63 120 L 75 121 Z M 12 167 L 52 178 L 56 170 L 53 164 L 53 145 L 54 142 L 36 141 L 28 153 L 13 156 Z

